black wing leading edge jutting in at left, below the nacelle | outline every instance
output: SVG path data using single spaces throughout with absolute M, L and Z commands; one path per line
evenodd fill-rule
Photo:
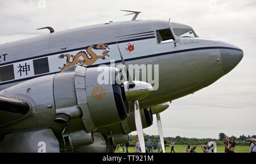
M 0 127 L 22 119 L 30 112 L 30 105 L 18 98 L 0 96 Z

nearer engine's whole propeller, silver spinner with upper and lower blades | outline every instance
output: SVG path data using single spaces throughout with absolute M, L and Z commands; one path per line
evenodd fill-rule
M 134 104 L 135 125 L 138 133 L 139 143 L 141 145 L 141 152 L 146 153 L 144 136 L 143 136 L 143 127 L 142 127 L 142 121 L 141 121 L 141 113 L 139 111 L 139 100 L 142 100 L 143 98 L 147 97 L 152 92 L 153 88 L 151 84 L 148 84 L 144 81 L 133 81 L 127 69 L 125 60 L 123 59 L 121 50 L 119 49 L 118 42 L 117 42 L 117 48 L 123 63 L 123 67 L 125 67 L 125 71 L 127 75 L 127 81 L 125 81 L 123 84 L 123 87 L 125 88 L 126 100 L 127 102 Z

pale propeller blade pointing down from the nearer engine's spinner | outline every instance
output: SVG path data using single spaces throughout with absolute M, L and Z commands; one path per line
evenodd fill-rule
M 139 144 L 141 145 L 141 152 L 146 153 L 144 136 L 143 136 L 143 128 L 141 122 L 141 113 L 139 111 L 139 101 L 134 101 L 134 116 L 135 116 L 135 125 L 138 133 Z

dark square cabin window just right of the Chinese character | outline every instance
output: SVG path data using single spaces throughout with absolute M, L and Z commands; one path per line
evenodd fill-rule
M 45 74 L 49 72 L 48 58 L 41 58 L 33 60 L 35 75 Z

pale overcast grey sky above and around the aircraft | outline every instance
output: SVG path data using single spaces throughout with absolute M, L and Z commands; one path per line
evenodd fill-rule
M 216 83 L 171 103 L 164 111 L 164 136 L 213 137 L 256 135 L 256 1 L 0 1 L 0 43 L 55 31 L 130 20 L 119 10 L 142 11 L 137 19 L 171 18 L 191 25 L 200 37 L 237 45 L 245 55 L 240 64 Z M 44 3 L 46 2 L 46 4 Z M 156 121 L 144 132 L 157 135 Z

